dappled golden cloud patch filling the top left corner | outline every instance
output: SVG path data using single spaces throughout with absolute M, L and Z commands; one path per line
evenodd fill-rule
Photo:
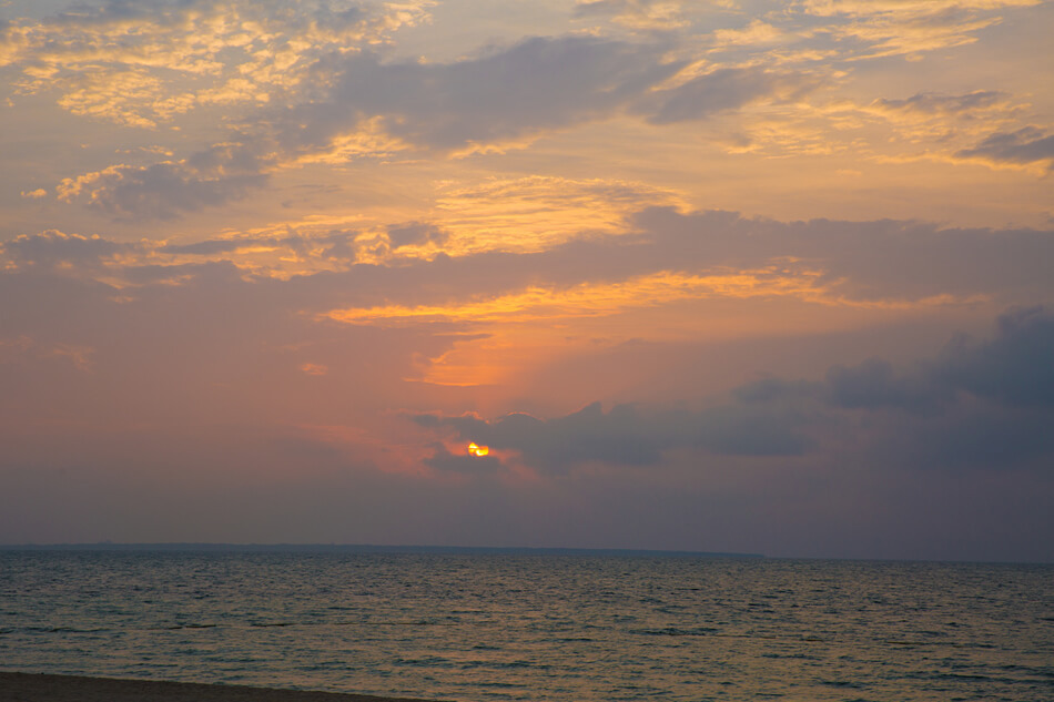
M 59 91 L 74 114 L 150 129 L 310 89 L 320 57 L 383 43 L 427 4 L 109 0 L 8 23 L 0 65 L 22 71 L 23 94 Z

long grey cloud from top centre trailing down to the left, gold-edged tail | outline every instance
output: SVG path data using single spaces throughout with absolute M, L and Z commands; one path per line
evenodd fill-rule
M 171 217 L 240 197 L 282 164 L 342 151 L 363 129 L 447 155 L 529 141 L 620 113 L 682 68 L 665 52 L 572 35 L 448 64 L 331 53 L 312 67 L 322 94 L 263 109 L 251 129 L 184 160 L 114 165 L 68 179 L 59 194 L 118 216 Z

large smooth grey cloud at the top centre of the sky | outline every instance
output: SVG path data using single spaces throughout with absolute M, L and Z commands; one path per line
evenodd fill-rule
M 683 65 L 663 61 L 665 53 L 662 45 L 569 35 L 529 38 L 448 64 L 349 55 L 331 102 L 305 112 L 316 129 L 337 108 L 382 115 L 395 136 L 445 151 L 501 144 L 617 114 Z

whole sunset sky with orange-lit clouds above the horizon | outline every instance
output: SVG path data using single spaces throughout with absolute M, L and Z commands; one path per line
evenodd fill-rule
M 1054 561 L 1052 34 L 0 0 L 0 543 Z

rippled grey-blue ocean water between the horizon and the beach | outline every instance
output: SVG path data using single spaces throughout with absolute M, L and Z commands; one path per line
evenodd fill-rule
M 0 670 L 495 700 L 1054 700 L 1054 567 L 0 551 Z

